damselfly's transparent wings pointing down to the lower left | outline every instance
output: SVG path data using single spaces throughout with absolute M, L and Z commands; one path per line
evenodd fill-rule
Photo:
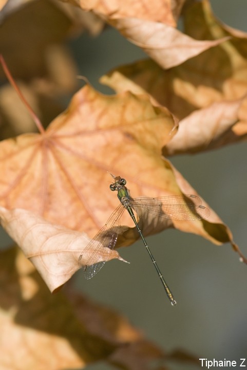
M 91 242 L 86 246 L 83 253 L 80 255 L 78 263 L 80 267 L 84 267 L 84 276 L 86 279 L 91 279 L 94 275 L 96 275 L 108 261 L 110 249 L 114 249 L 117 243 L 120 230 L 120 218 L 124 211 L 125 208 L 120 204 L 108 218 L 105 226 L 103 226 L 103 228 L 93 237 Z M 105 261 L 101 261 L 102 247 L 105 247 Z M 84 256 L 87 254 L 90 254 L 90 256 L 86 264 L 82 263 Z M 95 262 L 97 259 L 99 262 Z

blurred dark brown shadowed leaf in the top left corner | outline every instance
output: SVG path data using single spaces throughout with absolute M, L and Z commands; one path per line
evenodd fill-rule
M 8 14 L 0 29 L 0 50 L 14 78 L 47 77 L 47 48 L 61 43 L 70 27 L 71 20 L 49 0 L 29 2 Z

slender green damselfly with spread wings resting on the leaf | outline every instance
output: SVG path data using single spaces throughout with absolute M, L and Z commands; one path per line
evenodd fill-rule
M 110 184 L 110 190 L 118 192 L 118 198 L 121 204 L 118 208 L 111 214 L 105 226 L 94 236 L 92 241 L 87 245 L 87 251 L 92 251 L 91 255 L 84 266 L 84 276 L 86 279 L 91 279 L 100 269 L 104 266 L 106 261 L 97 261 L 97 255 L 99 249 L 103 246 L 105 248 L 114 249 L 117 243 L 117 239 L 120 233 L 120 218 L 125 210 L 128 211 L 130 217 L 134 221 L 136 228 L 140 234 L 140 237 L 146 247 L 146 250 L 156 268 L 159 275 L 161 283 L 165 288 L 166 294 L 170 303 L 173 306 L 176 305 L 172 291 L 166 284 L 163 275 L 155 261 L 153 254 L 151 253 L 145 238 L 143 236 L 142 230 L 140 229 L 133 209 L 138 214 L 138 209 L 142 211 L 149 212 L 157 217 L 163 217 L 170 220 L 199 220 L 208 217 L 210 211 L 201 205 L 201 199 L 196 195 L 174 195 L 165 196 L 158 198 L 134 198 L 132 199 L 128 193 L 126 185 L 126 180 L 120 176 L 111 175 L 115 182 Z M 85 253 L 84 250 L 84 253 Z M 83 254 L 79 257 L 79 265 L 82 265 L 81 260 Z

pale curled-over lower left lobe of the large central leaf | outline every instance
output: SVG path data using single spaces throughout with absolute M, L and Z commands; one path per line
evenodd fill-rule
M 7 210 L 0 207 L 1 225 L 20 246 L 27 258 L 41 274 L 50 291 L 66 283 L 79 269 L 79 256 L 90 242 L 85 233 L 53 225 L 42 217 L 24 209 Z M 124 261 L 115 250 L 99 246 L 97 261 L 118 258 Z M 86 264 L 92 251 L 88 248 L 81 263 Z M 101 257 L 100 257 L 101 255 Z

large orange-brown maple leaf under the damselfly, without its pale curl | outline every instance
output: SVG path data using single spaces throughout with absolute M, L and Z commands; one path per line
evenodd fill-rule
M 93 237 L 119 205 L 107 190 L 107 171 L 126 178 L 133 197 L 182 194 L 174 169 L 161 157 L 162 147 L 175 133 L 172 115 L 152 106 L 147 96 L 103 96 L 85 86 L 44 134 L 1 143 L 1 205 L 28 209 Z M 187 186 L 185 194 L 197 193 Z M 233 244 L 231 233 L 212 210 L 207 221 L 167 223 L 151 213 L 147 216 L 145 234 L 174 226 L 216 244 Z M 126 226 L 119 245 L 136 241 L 139 235 L 131 218 L 125 214 L 121 223 Z

